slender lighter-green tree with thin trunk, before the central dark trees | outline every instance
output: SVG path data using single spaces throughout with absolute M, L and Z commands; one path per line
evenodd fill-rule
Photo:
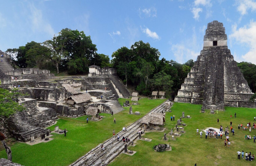
M 145 90 L 147 89 L 147 84 L 149 81 L 149 76 L 153 74 L 155 67 L 151 63 L 146 62 L 144 59 L 141 60 L 141 68 L 138 69 L 137 75 L 144 79 Z

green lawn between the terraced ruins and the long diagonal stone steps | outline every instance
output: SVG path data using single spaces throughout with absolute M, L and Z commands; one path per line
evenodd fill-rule
M 125 100 L 127 99 L 119 99 L 121 105 Z M 100 143 L 112 137 L 113 129 L 117 132 L 121 131 L 123 126 L 132 124 L 164 101 L 162 99 L 150 100 L 142 98 L 139 100 L 139 105 L 132 106 L 133 112 L 139 111 L 141 113 L 138 116 L 129 115 L 129 107 L 125 107 L 124 111 L 115 114 L 113 117 L 110 114 L 102 113 L 101 115 L 105 116 L 105 118 L 99 122 L 89 121 L 88 124 L 85 116 L 76 119 L 61 118 L 56 125 L 60 129 L 67 128 L 66 137 L 63 134 L 53 133 L 52 138 L 54 140 L 33 146 L 17 142 L 11 147 L 13 162 L 25 166 L 70 165 Z M 114 117 L 116 118 L 116 124 L 113 122 Z M 48 128 L 53 131 L 56 125 Z M 0 158 L 7 158 L 5 150 L 0 152 Z

